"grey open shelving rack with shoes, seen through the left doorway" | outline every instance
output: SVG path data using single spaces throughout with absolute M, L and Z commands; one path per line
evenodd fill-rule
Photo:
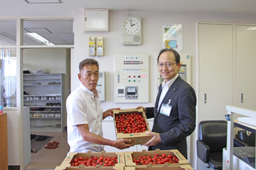
M 30 107 L 30 131 L 64 131 L 63 74 L 24 74 L 23 90 L 24 106 Z

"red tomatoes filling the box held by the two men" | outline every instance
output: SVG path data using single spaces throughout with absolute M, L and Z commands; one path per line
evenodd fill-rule
M 146 131 L 146 122 L 141 113 L 115 115 L 118 133 L 141 133 Z

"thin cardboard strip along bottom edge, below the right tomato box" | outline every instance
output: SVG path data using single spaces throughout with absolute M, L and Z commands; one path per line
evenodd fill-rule
M 125 166 L 125 170 L 193 170 L 193 168 L 190 165 L 180 165 L 180 166 L 158 166 L 152 167 L 152 166 L 146 166 L 146 167 L 138 167 L 138 166 Z

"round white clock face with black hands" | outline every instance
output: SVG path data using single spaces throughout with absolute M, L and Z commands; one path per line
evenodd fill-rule
M 141 23 L 136 18 L 128 18 L 123 22 L 123 29 L 128 34 L 136 34 L 141 29 Z

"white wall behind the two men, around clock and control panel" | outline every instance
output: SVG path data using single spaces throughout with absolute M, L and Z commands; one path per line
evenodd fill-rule
M 71 58 L 71 91 L 79 86 L 77 74 L 78 65 L 85 58 L 94 58 L 100 63 L 100 70 L 106 72 L 106 101 L 102 102 L 104 110 L 108 108 L 136 108 L 138 105 L 154 106 L 155 100 L 155 65 L 154 55 L 162 49 L 162 24 L 183 24 L 183 52 L 191 57 L 191 85 L 198 93 L 198 55 L 197 55 L 197 22 L 220 22 L 255 24 L 256 17 L 248 15 L 219 15 L 219 14 L 189 14 L 172 12 L 151 11 L 110 11 L 109 32 L 84 32 L 83 9 L 78 9 L 74 14 L 74 57 Z M 141 16 L 142 22 L 142 44 L 122 44 L 122 16 Z M 105 55 L 92 57 L 88 55 L 89 37 L 104 37 Z M 149 55 L 149 103 L 114 103 L 114 55 L 115 54 L 146 54 Z M 218 55 L 218 49 L 216 49 Z M 220 61 L 221 62 L 221 61 Z M 218 69 L 216 67 L 216 72 Z M 210 77 L 209 77 L 210 80 Z M 207 80 L 206 80 L 207 81 Z M 197 115 L 200 116 L 200 113 Z M 211 116 L 211 115 L 209 115 Z M 210 118 L 210 117 L 209 117 Z M 197 129 L 195 130 L 197 131 Z M 196 161 L 196 136 L 191 136 L 190 164 L 195 168 Z

